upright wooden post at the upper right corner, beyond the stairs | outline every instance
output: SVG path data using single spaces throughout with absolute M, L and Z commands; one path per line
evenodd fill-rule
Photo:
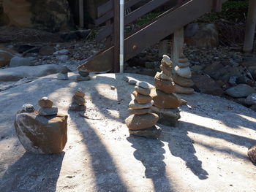
M 249 9 L 245 30 L 244 39 L 244 52 L 249 53 L 253 50 L 253 42 L 255 39 L 255 26 L 256 26 L 256 1 L 249 0 Z

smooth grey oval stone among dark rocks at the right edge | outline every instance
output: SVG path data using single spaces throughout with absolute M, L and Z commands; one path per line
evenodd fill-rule
M 246 97 L 252 93 L 256 93 L 256 90 L 255 90 L 255 88 L 252 88 L 249 85 L 239 84 L 236 87 L 228 88 L 225 91 L 225 93 L 234 98 L 238 98 L 238 97 Z

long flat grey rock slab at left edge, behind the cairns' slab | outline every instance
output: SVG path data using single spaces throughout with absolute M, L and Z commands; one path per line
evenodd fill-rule
M 24 77 L 42 77 L 57 73 L 58 65 L 17 66 L 0 69 L 0 82 L 18 81 Z

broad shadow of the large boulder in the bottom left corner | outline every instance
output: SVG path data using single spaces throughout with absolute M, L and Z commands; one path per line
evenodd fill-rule
M 24 153 L 1 178 L 0 191 L 56 191 L 65 153 L 39 155 Z

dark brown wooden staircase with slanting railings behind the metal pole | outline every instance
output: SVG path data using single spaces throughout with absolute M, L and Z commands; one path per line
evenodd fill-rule
M 141 0 L 125 1 L 124 7 L 128 9 Z M 124 17 L 124 25 L 134 22 L 148 12 L 160 7 L 171 0 L 152 0 L 142 7 L 135 9 Z M 178 0 L 176 6 L 152 20 L 147 26 L 124 39 L 124 61 L 134 57 L 147 47 L 156 44 L 174 31 L 186 26 L 206 12 L 219 11 L 222 3 L 227 0 Z M 98 20 L 96 25 L 106 23 L 105 28 L 99 31 L 97 41 L 106 38 L 106 49 L 89 58 L 86 63 L 78 66 L 89 72 L 118 72 L 119 47 L 119 4 L 110 0 L 98 7 Z

